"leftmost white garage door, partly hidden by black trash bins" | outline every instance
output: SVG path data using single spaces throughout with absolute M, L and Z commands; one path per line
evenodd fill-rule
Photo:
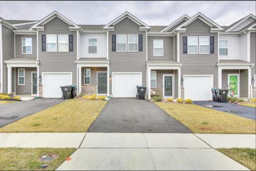
M 71 73 L 44 73 L 42 75 L 42 97 L 60 98 L 62 96 L 60 86 L 66 86 L 71 84 Z

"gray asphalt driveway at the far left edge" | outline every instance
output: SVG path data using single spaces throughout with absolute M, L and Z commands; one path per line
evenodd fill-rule
M 51 106 L 64 102 L 60 99 L 36 99 L 0 106 L 0 128 Z

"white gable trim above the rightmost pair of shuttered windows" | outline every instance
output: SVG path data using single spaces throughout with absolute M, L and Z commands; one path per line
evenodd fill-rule
M 187 25 L 189 25 L 191 22 L 195 21 L 196 19 L 200 19 L 204 23 L 206 23 L 208 26 L 210 26 L 211 31 L 223 30 L 223 28 L 220 25 L 218 25 L 216 22 L 212 21 L 211 19 L 209 19 L 208 17 L 206 17 L 205 15 L 203 15 L 200 12 L 197 13 L 196 15 L 194 15 L 193 17 L 191 17 L 190 19 L 188 19 L 186 22 L 184 22 L 182 25 L 180 25 L 176 30 L 186 31 L 186 29 L 184 29 L 183 27 L 186 27 Z

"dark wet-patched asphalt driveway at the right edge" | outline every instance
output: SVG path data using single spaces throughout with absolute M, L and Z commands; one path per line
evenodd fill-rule
M 219 102 L 213 102 L 213 101 L 193 102 L 193 103 L 203 107 L 208 107 L 210 109 L 215 109 L 215 110 L 219 110 L 219 111 L 227 112 L 230 114 L 256 120 L 256 108 L 253 108 L 253 107 L 241 106 L 241 105 L 231 104 L 231 103 L 219 103 Z

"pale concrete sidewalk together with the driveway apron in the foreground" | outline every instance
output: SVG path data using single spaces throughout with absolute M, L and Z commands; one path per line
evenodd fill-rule
M 248 170 L 215 148 L 254 148 L 255 135 L 1 133 L 0 148 L 77 148 L 57 170 Z M 196 156 L 196 157 L 195 157 Z

